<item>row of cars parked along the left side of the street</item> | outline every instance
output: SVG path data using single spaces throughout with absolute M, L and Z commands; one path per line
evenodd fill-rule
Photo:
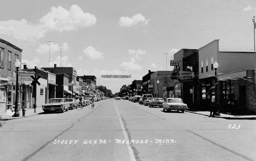
M 95 100 L 97 98 L 95 97 Z M 61 112 L 68 111 L 69 109 L 75 109 L 79 106 L 85 107 L 91 104 L 91 97 L 82 97 L 82 101 L 79 100 L 79 97 L 75 98 L 51 98 L 47 103 L 42 105 L 44 113 L 49 112 Z

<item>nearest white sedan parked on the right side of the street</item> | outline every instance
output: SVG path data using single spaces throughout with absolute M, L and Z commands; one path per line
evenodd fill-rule
M 171 110 L 181 110 L 184 113 L 185 109 L 188 109 L 187 104 L 183 103 L 182 98 L 166 98 L 165 103 L 162 103 L 162 108 L 170 112 Z

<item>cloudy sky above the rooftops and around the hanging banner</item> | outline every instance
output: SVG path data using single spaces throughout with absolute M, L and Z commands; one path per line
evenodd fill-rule
M 172 70 L 182 48 L 216 39 L 253 47 L 253 16 L 255 0 L 8 0 L 1 2 L 0 38 L 22 49 L 28 68 L 72 66 L 114 94 L 149 70 Z

